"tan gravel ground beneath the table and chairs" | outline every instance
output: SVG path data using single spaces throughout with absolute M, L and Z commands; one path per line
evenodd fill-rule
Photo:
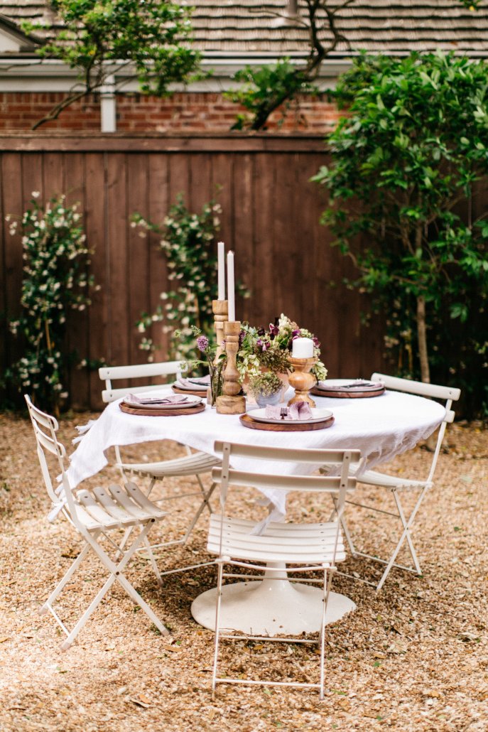
M 93 416 L 64 419 L 61 439 L 69 445 L 74 425 Z M 132 455 L 169 456 L 180 449 L 150 444 Z M 431 459 L 421 446 L 388 469 L 425 474 Z M 114 477 L 108 469 L 98 482 Z M 333 589 L 348 594 L 358 609 L 329 627 L 325 701 L 307 690 L 225 685 L 212 701 L 213 634 L 195 624 L 190 605 L 214 586 L 214 567 L 169 575 L 159 590 L 139 557 L 129 578 L 170 628 L 169 640 L 115 587 L 70 651 L 59 650 L 61 631 L 37 609 L 81 542 L 66 521 L 45 521 L 49 501 L 30 422 L 0 416 L 0 730 L 486 731 L 487 477 L 487 431 L 480 424 L 452 425 L 435 490 L 414 531 L 424 575 L 394 570 L 379 594 L 363 583 L 334 578 Z M 386 506 L 383 495 L 371 497 Z M 252 496 L 244 492 L 244 498 L 239 505 L 248 510 Z M 165 537 L 178 534 L 191 507 L 188 499 L 170 514 L 161 527 Z M 294 518 L 310 514 L 326 516 L 327 507 L 315 501 L 290 510 Z M 394 535 L 387 518 L 360 509 L 350 512 L 350 525 L 372 551 L 384 552 Z M 160 567 L 205 561 L 205 542 L 203 516 L 185 547 L 159 552 Z M 345 567 L 374 576 L 366 561 L 348 559 Z M 60 603 L 68 623 L 86 608 L 103 577 L 96 558 L 75 575 Z M 239 643 L 233 653 L 225 646 L 223 661 L 249 677 L 261 672 L 269 678 L 277 671 L 315 680 L 318 656 L 312 649 Z

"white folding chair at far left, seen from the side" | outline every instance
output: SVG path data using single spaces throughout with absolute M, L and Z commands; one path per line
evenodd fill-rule
M 151 503 L 133 482 L 127 482 L 123 487 L 110 485 L 108 488 L 94 488 L 93 490 L 83 490 L 81 488 L 72 490 L 64 468 L 66 450 L 56 436 L 56 431 L 59 429 L 58 422 L 54 417 L 35 407 L 29 396 L 26 395 L 25 398 L 36 436 L 37 456 L 40 460 L 42 477 L 50 499 L 53 501 L 53 510 L 48 518 L 54 520 L 57 515 L 64 515 L 85 542 L 77 559 L 40 608 L 41 615 L 49 611 L 66 633 L 67 639 L 61 645 L 61 650 L 66 651 L 70 648 L 78 632 L 86 624 L 86 621 L 115 581 L 119 582 L 131 600 L 144 610 L 159 632 L 162 635 L 168 635 L 168 630 L 124 575 L 127 564 L 134 556 L 135 551 L 143 544 L 149 554 L 157 583 L 162 586 L 161 575 L 157 569 L 147 535 L 152 526 L 164 518 L 165 512 Z M 49 455 L 51 458 L 48 462 Z M 61 482 L 59 482 L 57 488 L 54 488 L 56 483 L 53 484 L 50 477 L 50 469 L 53 468 L 57 468 L 55 474 L 61 473 Z M 127 548 L 122 547 L 120 543 L 114 540 L 110 533 L 118 531 L 120 534 L 121 529 L 127 529 L 128 527 L 139 529 L 139 533 Z M 115 548 L 115 559 L 110 559 L 107 550 L 102 546 L 102 539 L 106 539 Z M 53 602 L 59 597 L 59 594 L 71 580 L 90 550 L 100 559 L 103 567 L 108 570 L 108 579 L 75 624 L 75 627 L 68 630 L 53 608 Z

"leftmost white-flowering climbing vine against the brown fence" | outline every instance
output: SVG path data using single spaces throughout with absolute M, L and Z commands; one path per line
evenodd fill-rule
M 59 412 L 67 400 L 67 369 L 74 354 L 66 348 L 67 314 L 90 305 L 94 278 L 87 274 L 89 250 L 78 207 L 64 195 L 42 206 L 32 193 L 31 207 L 20 222 L 24 277 L 20 318 L 10 322 L 22 339 L 23 356 L 4 376 L 7 385 L 28 392 L 42 408 Z M 10 234 L 18 222 L 7 217 Z

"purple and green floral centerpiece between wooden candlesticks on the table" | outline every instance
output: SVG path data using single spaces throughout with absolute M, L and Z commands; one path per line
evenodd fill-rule
M 295 338 L 311 338 L 314 343 L 314 356 L 319 358 L 318 338 L 306 328 L 301 328 L 291 321 L 283 313 L 275 319 L 274 324 L 269 324 L 267 330 L 243 323 L 237 354 L 237 368 L 241 383 L 246 379 L 258 376 L 263 370 L 274 373 L 292 371 L 293 367 L 290 365 L 289 359 Z M 327 369 L 318 360 L 312 368 L 312 373 L 318 381 L 322 381 L 327 376 Z

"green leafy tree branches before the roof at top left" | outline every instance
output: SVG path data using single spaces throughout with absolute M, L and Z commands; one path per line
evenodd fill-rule
M 60 59 L 78 72 L 73 91 L 39 122 L 56 119 L 76 100 L 119 75 L 121 84 L 138 79 L 144 94 L 165 96 L 168 86 L 185 82 L 198 69 L 199 54 L 190 45 L 190 9 L 160 0 L 52 0 L 58 20 L 38 53 Z M 59 29 L 59 21 L 62 27 Z M 25 31 L 45 25 L 23 23 Z

